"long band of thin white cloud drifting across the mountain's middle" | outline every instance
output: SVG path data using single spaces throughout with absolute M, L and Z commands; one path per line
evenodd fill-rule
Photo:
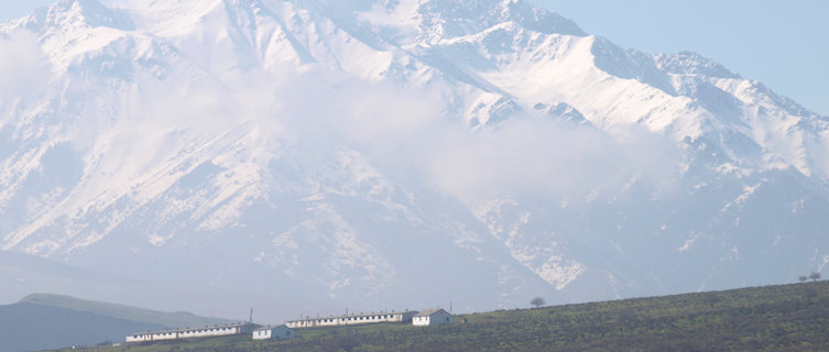
M 22 34 L 2 45 L 25 46 L 31 38 Z M 29 46 L 22 54 L 36 63 L 37 53 Z M 223 153 L 230 146 L 220 144 L 243 135 L 243 158 L 261 168 L 287 150 L 298 151 L 293 157 L 327 162 L 346 147 L 361 152 L 386 175 L 405 175 L 406 182 L 467 201 L 519 195 L 574 201 L 596 189 L 617 193 L 631 179 L 662 183 L 677 165 L 673 144 L 644 130 L 608 133 L 516 116 L 472 131 L 447 114 L 438 92 L 367 82 L 324 68 L 234 73 L 221 82 L 186 87 L 170 80 L 142 85 L 120 107 L 126 118 L 98 131 L 102 136 L 79 136 L 95 141 L 92 148 L 100 151 L 97 165 L 109 170 L 101 177 L 121 184 L 142 169 L 178 160 L 192 152 L 188 145 Z M 219 140 L 231 131 L 237 138 Z

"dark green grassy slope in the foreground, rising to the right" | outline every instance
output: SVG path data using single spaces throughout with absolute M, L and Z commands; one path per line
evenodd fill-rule
M 829 351 L 829 282 L 500 310 L 457 316 L 451 327 L 380 323 L 297 334 L 291 341 L 231 337 L 127 350 Z

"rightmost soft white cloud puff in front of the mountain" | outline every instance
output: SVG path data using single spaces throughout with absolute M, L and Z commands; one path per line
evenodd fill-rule
M 467 200 L 618 191 L 634 178 L 662 183 L 676 165 L 668 142 L 637 130 L 611 134 L 519 117 L 498 129 L 455 134 L 437 143 L 426 168 L 438 187 Z

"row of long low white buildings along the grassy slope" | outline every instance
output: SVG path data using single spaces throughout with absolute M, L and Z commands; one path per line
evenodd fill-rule
M 424 311 L 380 312 L 346 315 L 328 318 L 306 318 L 291 320 L 282 326 L 260 326 L 239 322 L 225 326 L 173 329 L 164 331 L 138 332 L 127 337 L 127 342 L 150 342 L 189 338 L 210 338 L 233 334 L 249 334 L 253 340 L 284 340 L 296 337 L 293 329 L 354 326 L 377 322 L 412 322 L 413 326 L 443 326 L 455 322 L 455 318 L 444 309 Z

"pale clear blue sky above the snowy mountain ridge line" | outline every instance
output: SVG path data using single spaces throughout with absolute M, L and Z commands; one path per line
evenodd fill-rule
M 692 51 L 829 116 L 828 0 L 531 0 L 646 53 Z M 0 0 L 0 21 L 50 0 Z

